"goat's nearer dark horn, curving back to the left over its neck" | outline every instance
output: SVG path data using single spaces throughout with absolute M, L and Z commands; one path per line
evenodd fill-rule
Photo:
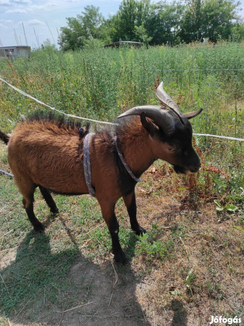
M 158 124 L 165 133 L 170 134 L 174 131 L 175 124 L 178 120 L 177 116 L 173 111 L 159 105 L 136 106 L 122 113 L 118 118 L 126 117 L 128 115 L 141 115 L 142 112 L 145 112 L 146 117 L 155 121 L 155 123 Z

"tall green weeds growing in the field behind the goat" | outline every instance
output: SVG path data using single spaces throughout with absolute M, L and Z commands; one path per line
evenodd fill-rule
M 47 46 L 33 51 L 30 60 L 0 64 L 5 79 L 44 103 L 66 113 L 105 121 L 113 121 L 121 111 L 138 104 L 158 104 L 155 87 L 164 81 L 166 91 L 183 112 L 203 108 L 203 113 L 192 120 L 195 132 L 241 138 L 244 46 L 219 45 L 138 50 L 92 46 L 75 52 Z M 14 124 L 20 113 L 40 105 L 8 86 L 2 87 L 0 127 L 9 131 L 10 121 Z M 202 161 L 210 179 L 205 171 L 200 173 L 199 185 L 192 193 L 194 201 L 204 190 L 202 196 L 210 191 L 220 197 L 221 204 L 226 199 L 227 204 L 238 206 L 244 184 L 243 143 L 197 137 L 196 146 L 200 154 L 204 152 Z M 211 173 L 210 167 L 220 169 L 220 173 Z

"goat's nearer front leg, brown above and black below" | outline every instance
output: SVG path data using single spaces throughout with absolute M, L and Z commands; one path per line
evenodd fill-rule
M 115 204 L 109 204 L 105 201 L 99 201 L 103 218 L 107 224 L 109 233 L 112 239 L 112 253 L 117 263 L 123 264 L 126 260 L 125 253 L 123 252 L 119 240 L 119 223 L 115 216 Z

